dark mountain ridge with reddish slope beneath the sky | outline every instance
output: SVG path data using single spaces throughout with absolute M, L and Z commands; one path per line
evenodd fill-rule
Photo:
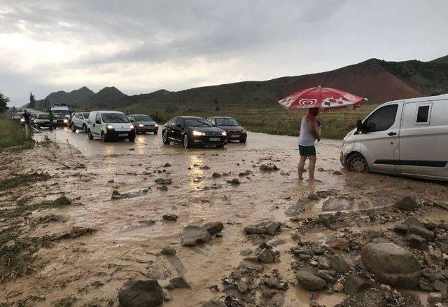
M 303 88 L 314 86 L 340 88 L 367 97 L 372 103 L 410 97 L 448 93 L 448 56 L 429 62 L 409 60 L 388 62 L 370 59 L 332 71 L 302 76 L 286 76 L 268 81 L 244 81 L 218 86 L 190 88 L 178 92 L 158 90 L 140 95 L 125 95 L 111 86 L 92 92 L 87 87 L 69 93 L 50 93 L 50 104 L 65 102 L 74 107 L 123 108 L 154 105 L 213 104 L 272 104 L 275 100 Z

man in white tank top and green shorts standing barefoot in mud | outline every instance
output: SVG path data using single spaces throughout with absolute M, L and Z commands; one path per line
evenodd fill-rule
M 318 120 L 317 115 L 319 113 L 318 108 L 309 109 L 309 113 L 302 117 L 302 122 L 300 123 L 300 135 L 299 135 L 299 153 L 300 161 L 297 165 L 297 171 L 299 175 L 299 180 L 303 180 L 304 165 L 307 158 L 309 159 L 308 172 L 309 181 L 312 182 L 314 179 L 314 169 L 316 168 L 316 147 L 314 142 L 319 142 L 321 136 L 318 132 Z

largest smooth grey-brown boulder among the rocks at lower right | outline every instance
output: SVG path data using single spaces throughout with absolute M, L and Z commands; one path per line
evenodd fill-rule
M 412 252 L 393 243 L 370 243 L 363 247 L 361 258 L 365 268 L 379 282 L 402 289 L 419 284 L 420 264 Z

